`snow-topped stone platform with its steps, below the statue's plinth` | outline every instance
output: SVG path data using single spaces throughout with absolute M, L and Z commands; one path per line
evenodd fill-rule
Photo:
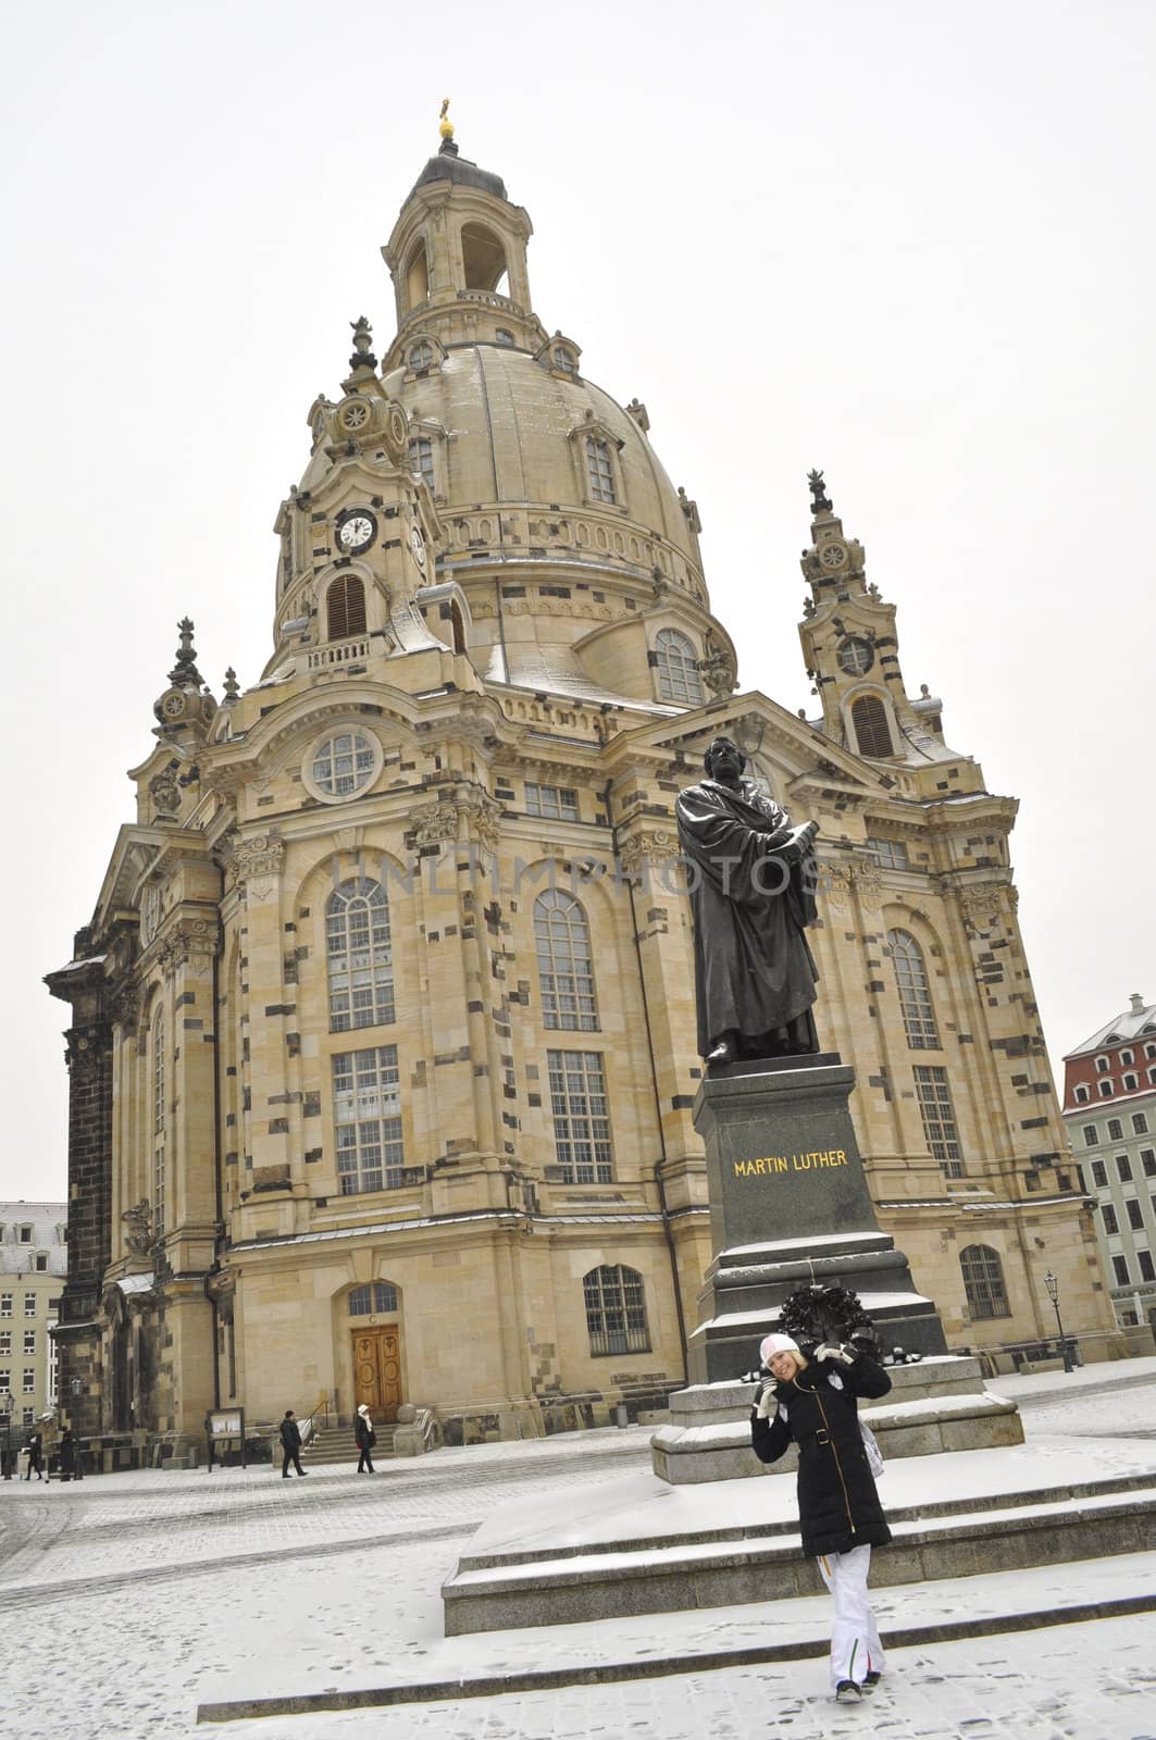
M 1046 1441 L 891 1462 L 893 1542 L 872 1587 L 1156 1549 L 1156 1453 L 1088 1479 L 1086 1444 Z M 1064 1444 L 1069 1448 L 1064 1449 Z M 1059 1446 L 1059 1448 L 1052 1448 Z M 446 1634 L 672 1613 L 810 1596 L 794 1481 L 665 1486 L 648 1476 L 576 1491 L 569 1517 L 500 1512 L 442 1587 Z

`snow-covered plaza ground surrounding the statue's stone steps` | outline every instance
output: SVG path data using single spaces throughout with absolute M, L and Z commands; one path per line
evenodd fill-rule
M 1041 1484 L 1072 1460 L 1095 1477 L 1156 1456 L 1156 1357 L 991 1389 L 1018 1401 L 1027 1446 L 982 1455 L 1029 1455 Z M 851 1709 L 817 1653 L 827 1597 L 444 1637 L 440 1585 L 498 1505 L 566 1516 L 594 1484 L 613 1502 L 611 1482 L 627 1495 L 649 1477 L 649 1436 L 446 1449 L 374 1477 L 333 1465 L 282 1482 L 265 1465 L 3 1484 L 0 1733 L 1156 1740 L 1156 1552 L 879 1587 L 884 1641 L 917 1641 L 890 1650 L 883 1686 Z M 893 1462 L 881 1491 L 917 1496 L 964 1460 Z M 722 1484 L 756 1512 L 794 1486 Z M 366 1703 L 319 1707 L 334 1693 Z M 315 1702 L 204 1719 L 294 1696 Z

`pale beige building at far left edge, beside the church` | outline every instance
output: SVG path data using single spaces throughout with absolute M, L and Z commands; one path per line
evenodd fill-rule
M 12 1397 L 14 1436 L 57 1401 L 50 1331 L 68 1268 L 66 1213 L 63 1202 L 0 1202 L 0 1397 Z

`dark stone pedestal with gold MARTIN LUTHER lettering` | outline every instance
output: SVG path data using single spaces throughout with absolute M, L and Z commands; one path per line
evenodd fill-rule
M 808 1284 L 858 1293 L 884 1347 L 945 1352 L 935 1305 L 876 1221 L 848 1110 L 853 1086 L 837 1053 L 820 1053 L 736 1063 L 698 1089 L 717 1255 L 689 1342 L 695 1383 L 756 1369 L 778 1307 Z

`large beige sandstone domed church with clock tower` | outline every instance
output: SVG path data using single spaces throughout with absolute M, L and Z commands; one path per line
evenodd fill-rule
M 183 625 L 136 818 L 49 978 L 87 1432 L 324 1394 L 529 1436 L 682 1382 L 710 1237 L 672 806 L 719 731 L 822 826 L 820 1035 L 949 1343 L 1046 1336 L 1052 1263 L 1071 1328 L 1119 1348 L 1015 802 L 907 694 L 895 606 L 818 478 L 822 710 L 735 693 L 696 505 L 646 407 L 540 322 L 529 235 L 453 143 L 418 176 L 383 249 L 397 336 L 378 367 L 355 324 L 277 513 L 268 665 L 218 699 Z

